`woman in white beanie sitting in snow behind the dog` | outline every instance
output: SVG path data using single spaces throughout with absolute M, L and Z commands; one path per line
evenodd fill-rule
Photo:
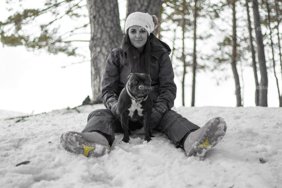
M 82 132 L 63 133 L 60 143 L 65 150 L 96 157 L 109 151 L 115 133 L 123 132 L 118 96 L 127 83 L 127 76 L 134 72 L 147 73 L 152 79 L 151 129 L 164 132 L 176 147 L 185 150 L 187 156 L 204 157 L 223 138 L 226 132 L 223 118 L 213 118 L 200 128 L 171 110 L 176 98 L 169 58 L 171 50 L 151 33 L 156 25 L 156 16 L 147 13 L 134 12 L 127 17 L 121 48 L 113 49 L 105 66 L 102 98 L 107 109 L 91 112 Z M 130 130 L 141 127 L 137 122 L 129 124 Z

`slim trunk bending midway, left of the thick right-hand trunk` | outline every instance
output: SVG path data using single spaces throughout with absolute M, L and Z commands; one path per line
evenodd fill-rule
M 231 57 L 231 67 L 232 67 L 232 72 L 234 75 L 234 80 L 235 80 L 235 94 L 236 94 L 236 101 L 237 104 L 236 106 L 242 106 L 241 104 L 241 88 L 240 88 L 240 81 L 239 81 L 239 75 L 237 72 L 236 68 L 236 11 L 235 11 L 235 1 L 232 2 L 232 15 L 233 15 L 233 34 L 232 34 L 232 57 Z

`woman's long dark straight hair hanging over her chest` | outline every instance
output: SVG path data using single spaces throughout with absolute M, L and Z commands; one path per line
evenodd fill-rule
M 130 73 L 145 73 L 150 75 L 151 48 L 149 35 L 141 53 L 131 44 L 128 29 L 122 39 L 121 46 L 124 58 L 126 58 L 129 63 Z M 136 54 L 138 54 L 139 58 L 134 59 L 134 55 L 136 56 Z

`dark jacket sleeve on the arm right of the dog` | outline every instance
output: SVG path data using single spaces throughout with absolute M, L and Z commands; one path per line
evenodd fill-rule
M 174 83 L 174 73 L 172 63 L 168 53 L 164 53 L 159 60 L 159 98 L 155 102 L 155 106 L 162 108 L 162 113 L 166 113 L 168 109 L 174 106 L 176 98 L 176 84 Z

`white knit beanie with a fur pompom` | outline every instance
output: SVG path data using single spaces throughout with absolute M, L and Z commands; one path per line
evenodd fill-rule
M 130 15 L 127 16 L 127 19 L 125 21 L 125 33 L 127 29 L 131 26 L 141 26 L 148 31 L 148 34 L 150 35 L 151 32 L 154 31 L 155 28 L 157 28 L 157 16 L 155 15 L 150 15 L 148 13 L 143 13 L 143 12 L 133 12 Z

